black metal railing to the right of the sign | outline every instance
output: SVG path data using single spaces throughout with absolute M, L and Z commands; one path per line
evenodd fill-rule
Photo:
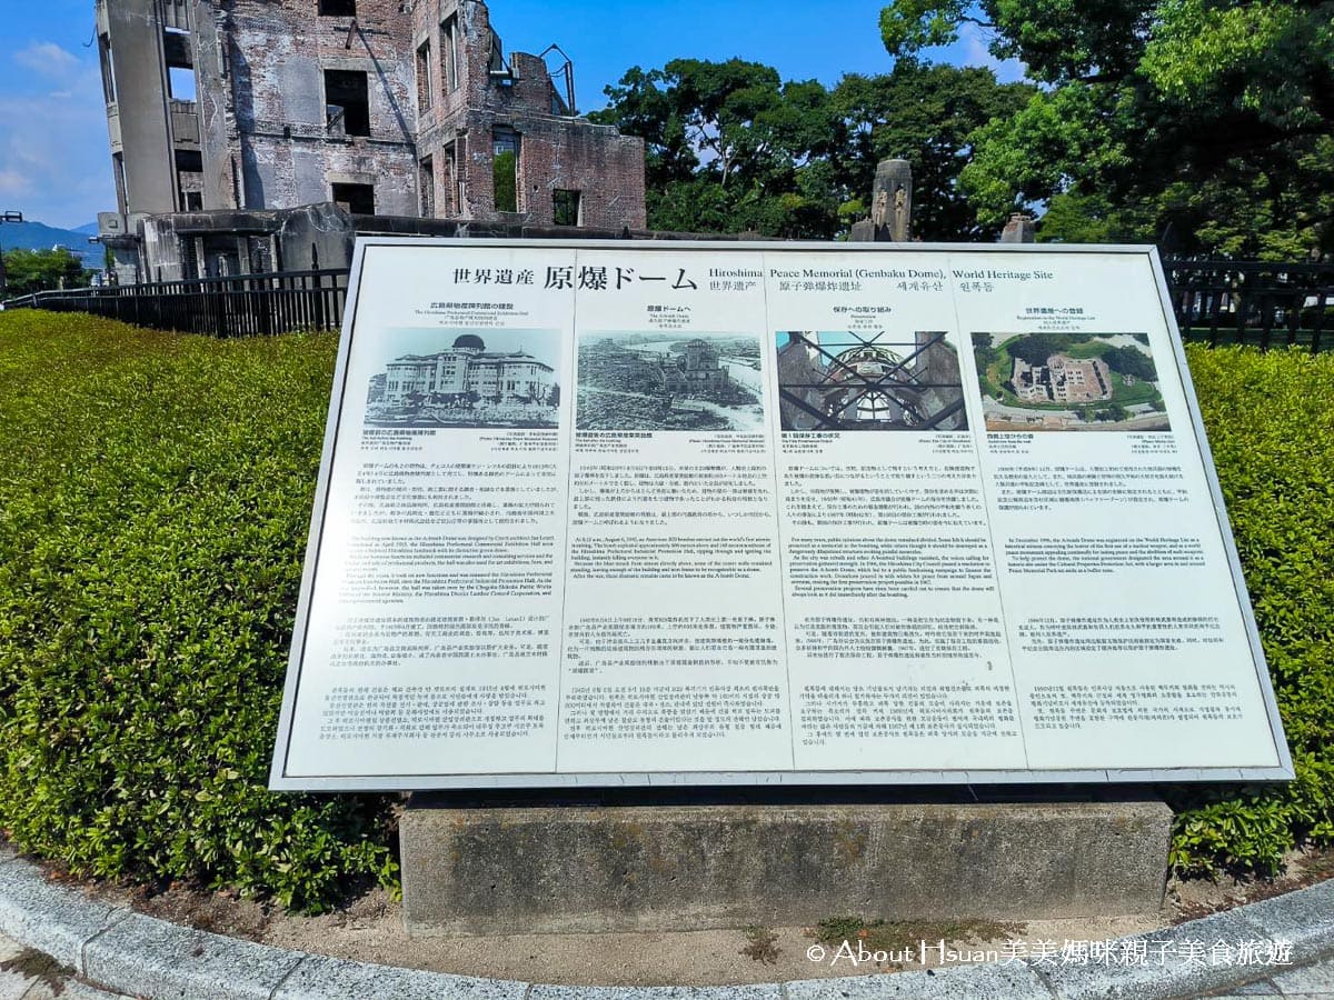
M 1334 347 L 1334 263 L 1166 260 L 1163 271 L 1185 340 Z

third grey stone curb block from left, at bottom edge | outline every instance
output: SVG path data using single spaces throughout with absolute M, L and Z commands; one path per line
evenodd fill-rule
M 446 976 L 308 955 L 273 1000 L 523 1000 L 527 983 Z

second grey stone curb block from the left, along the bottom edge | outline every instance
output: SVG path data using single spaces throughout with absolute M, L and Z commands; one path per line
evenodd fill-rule
M 296 952 L 239 941 L 139 913 L 84 948 L 84 975 L 135 996 L 268 1000 L 296 968 Z

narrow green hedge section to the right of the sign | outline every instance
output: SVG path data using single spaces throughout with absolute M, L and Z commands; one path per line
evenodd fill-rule
M 1297 780 L 1173 789 L 1173 863 L 1270 873 L 1334 843 L 1334 355 L 1187 356 Z

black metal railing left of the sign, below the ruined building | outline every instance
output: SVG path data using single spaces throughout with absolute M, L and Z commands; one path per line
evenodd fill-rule
M 339 329 L 347 301 L 346 269 L 287 271 L 143 285 L 36 292 L 5 308 L 87 312 L 136 327 L 244 337 L 295 329 Z

